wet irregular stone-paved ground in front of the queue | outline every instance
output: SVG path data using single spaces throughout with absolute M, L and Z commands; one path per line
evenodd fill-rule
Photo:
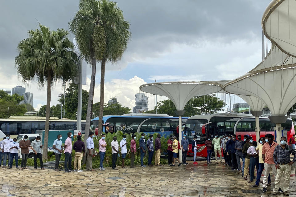
M 175 196 L 273 196 L 272 185 L 265 194 L 243 193 L 252 183 L 244 180 L 241 173 L 232 171 L 223 164 L 207 164 L 199 161 L 194 165 L 180 167 L 146 167 L 127 168 L 105 171 L 83 171 L 64 173 L 51 169 L 34 171 L 0 169 L 0 197 L 4 196 L 97 196 L 97 197 L 175 197 Z M 263 176 L 261 177 L 263 180 Z M 260 184 L 261 186 L 261 184 Z M 261 189 L 255 188 L 255 189 Z M 290 196 L 296 196 L 296 178 L 292 170 Z M 283 196 L 279 193 L 278 196 Z

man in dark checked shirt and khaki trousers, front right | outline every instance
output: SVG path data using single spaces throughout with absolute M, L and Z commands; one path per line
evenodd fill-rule
M 290 160 L 291 154 L 294 155 L 292 161 Z M 276 146 L 274 149 L 273 161 L 277 168 L 277 177 L 274 181 L 272 195 L 278 194 L 280 183 L 283 177 L 283 192 L 285 196 L 288 196 L 288 189 L 290 186 L 291 165 L 294 162 L 296 162 L 296 151 L 287 144 L 287 138 L 284 136 L 281 137 L 281 145 Z

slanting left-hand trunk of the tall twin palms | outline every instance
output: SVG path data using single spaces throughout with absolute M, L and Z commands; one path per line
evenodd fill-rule
M 85 149 L 87 147 L 86 140 L 88 138 L 88 134 L 90 131 L 90 123 L 92 120 L 92 103 L 93 103 L 93 95 L 95 90 L 95 79 L 96 79 L 96 67 L 97 67 L 97 59 L 92 55 L 92 76 L 90 79 L 89 86 L 89 94 L 88 94 L 88 103 L 87 103 L 87 111 L 86 111 L 86 122 L 85 122 L 85 133 L 84 133 L 84 146 Z M 83 157 L 83 163 L 85 163 L 86 155 Z

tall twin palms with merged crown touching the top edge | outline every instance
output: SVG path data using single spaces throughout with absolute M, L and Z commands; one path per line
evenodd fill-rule
M 104 84 L 106 61 L 117 62 L 121 59 L 131 38 L 130 24 L 123 18 L 116 2 L 108 0 L 80 0 L 79 10 L 69 22 L 69 28 L 75 34 L 80 53 L 86 62 L 92 64 L 88 106 L 86 114 L 85 136 L 90 130 L 92 103 L 96 78 L 97 61 L 101 61 L 101 94 L 99 123 L 103 119 Z M 99 135 L 102 127 L 99 128 Z M 84 138 L 84 143 L 86 144 Z

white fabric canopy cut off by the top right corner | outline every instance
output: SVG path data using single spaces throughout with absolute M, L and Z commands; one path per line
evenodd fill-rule
M 296 57 L 296 1 L 272 0 L 262 17 L 265 36 L 284 53 Z

